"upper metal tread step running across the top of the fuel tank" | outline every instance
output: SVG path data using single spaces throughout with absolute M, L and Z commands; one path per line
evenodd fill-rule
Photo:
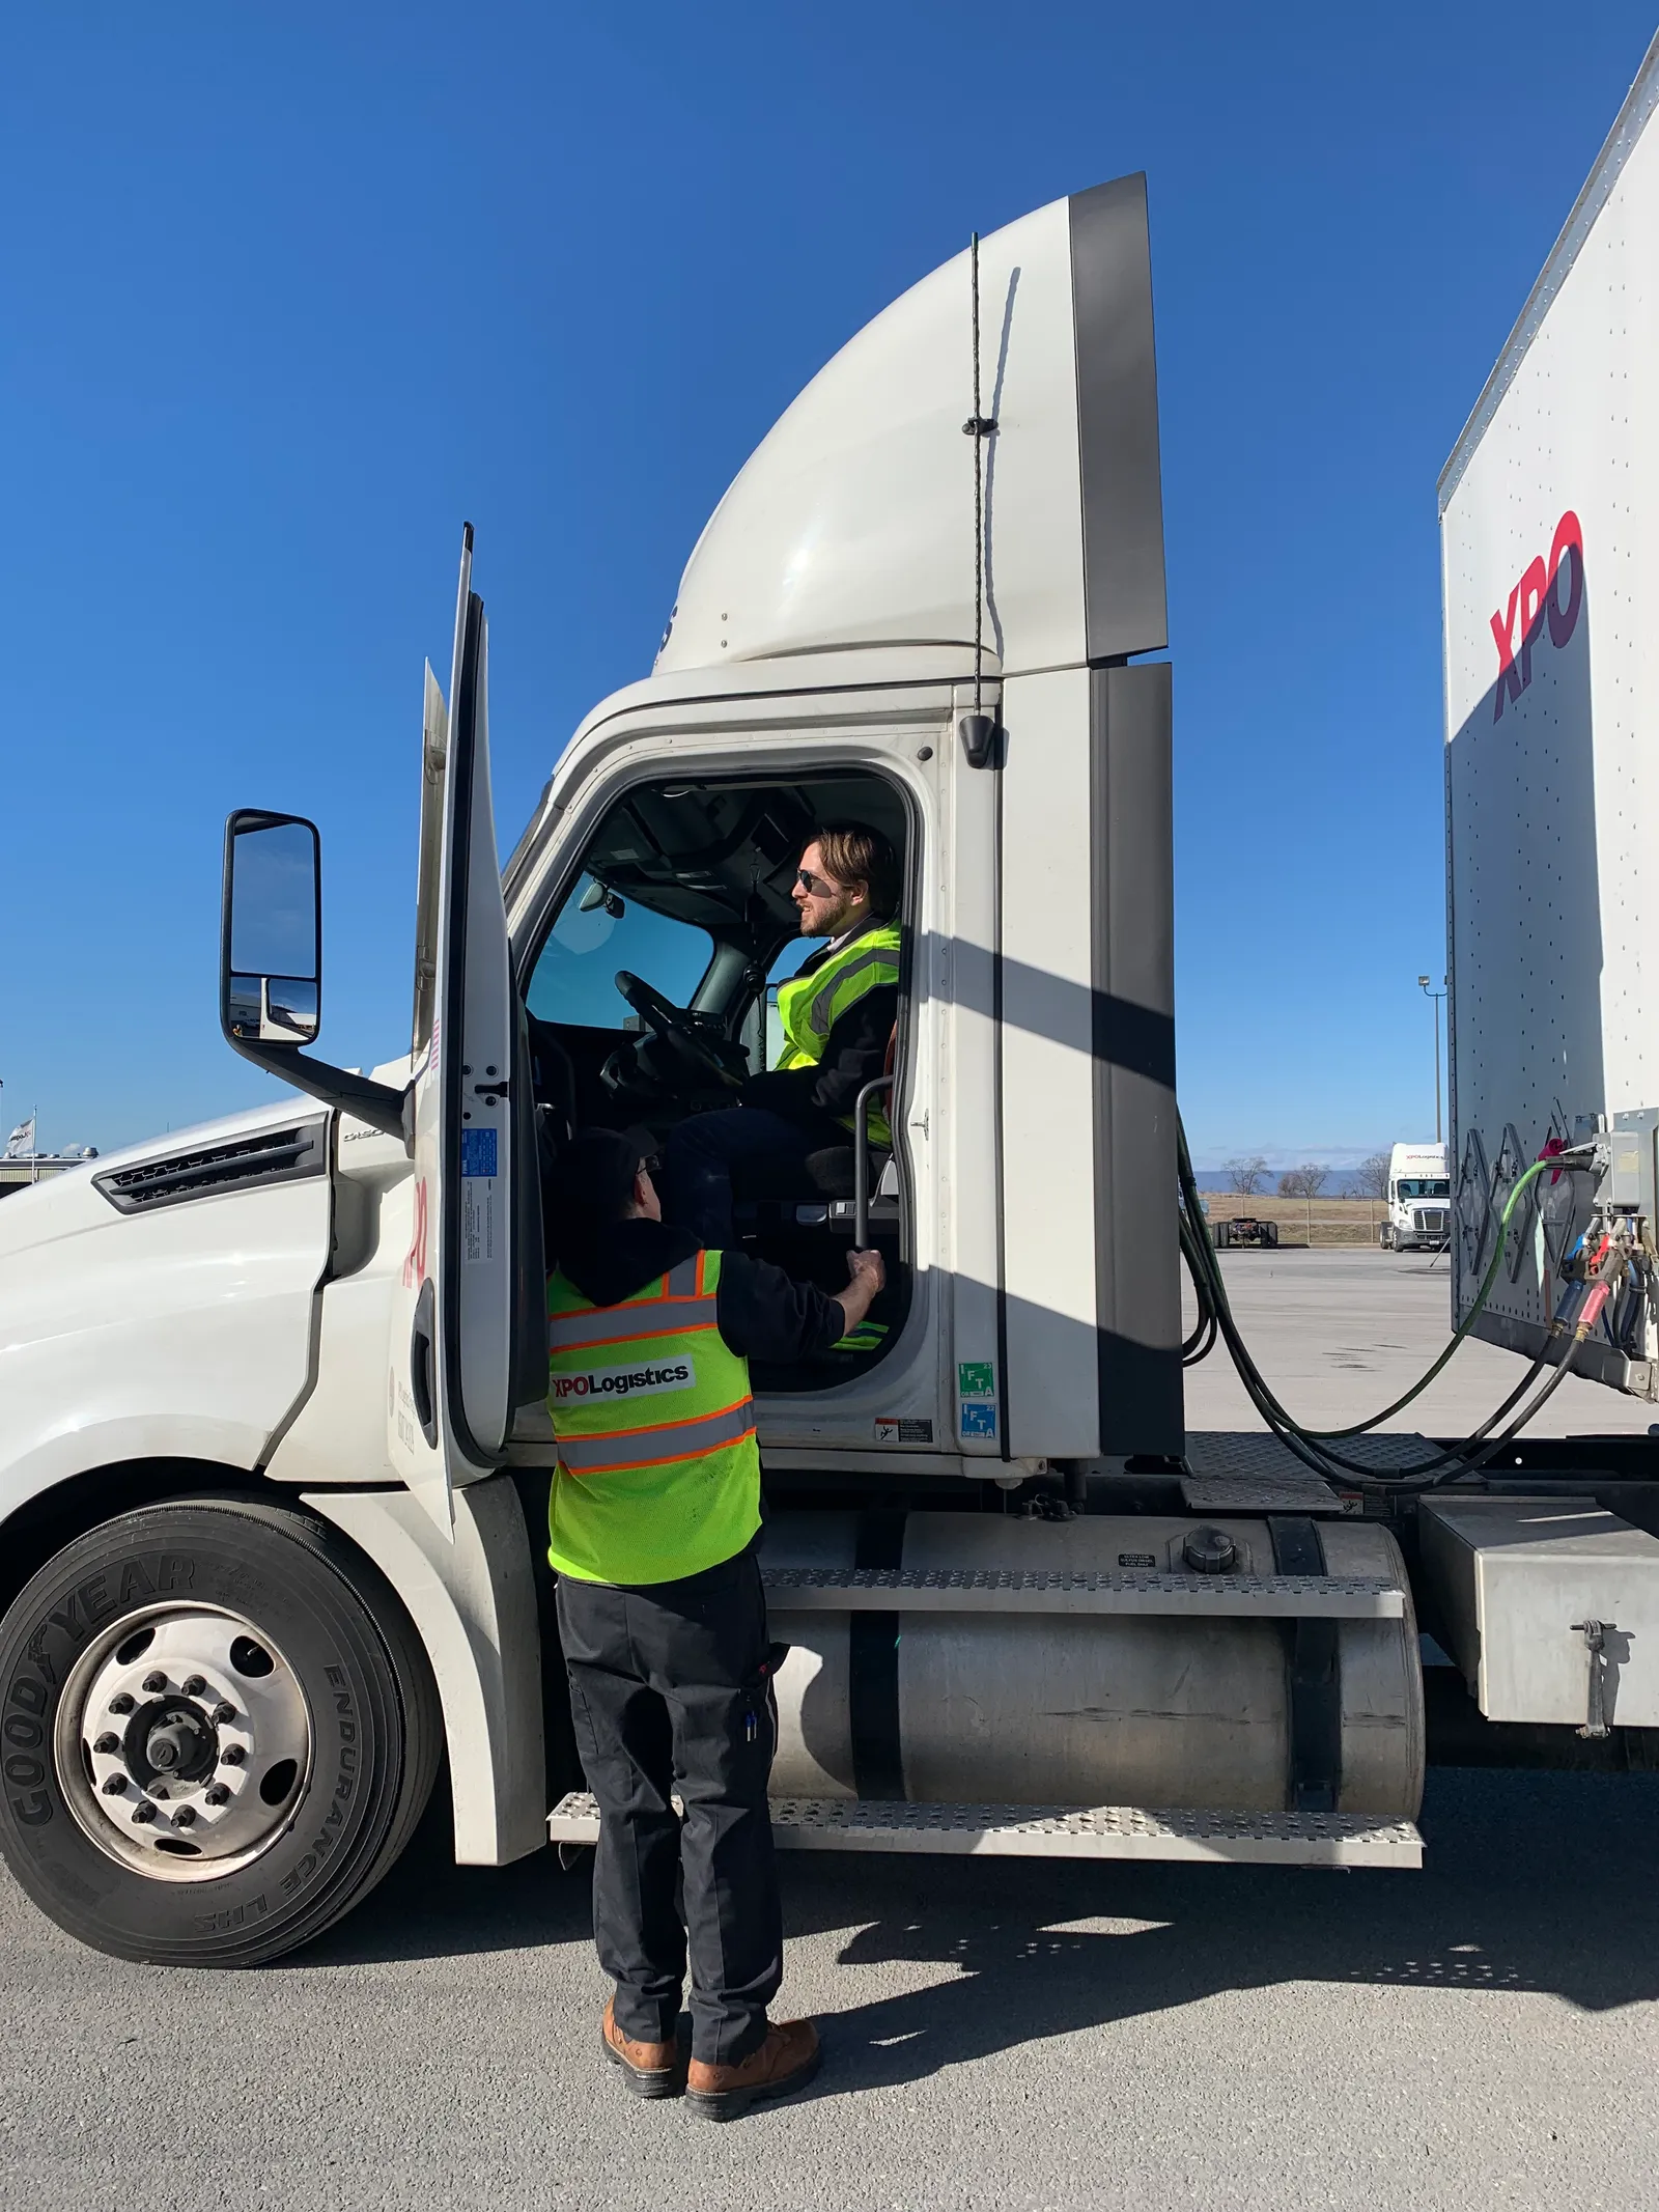
M 1110 1575 L 1064 1568 L 768 1566 L 779 1613 L 1186 1613 L 1201 1619 L 1398 1621 L 1380 1575 Z

